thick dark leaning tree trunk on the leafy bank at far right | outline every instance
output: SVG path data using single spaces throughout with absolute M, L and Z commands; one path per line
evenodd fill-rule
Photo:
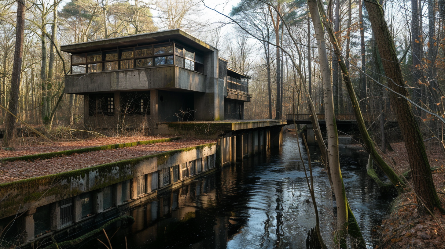
M 405 80 L 397 60 L 394 41 L 384 20 L 383 7 L 376 0 L 367 0 L 365 4 L 372 30 L 376 35 L 385 75 L 389 78 L 388 87 L 407 97 Z M 407 100 L 395 93 L 391 93 L 391 97 L 391 104 L 396 112 L 396 118 L 405 141 L 414 190 L 429 210 L 433 211 L 433 208 L 437 207 L 443 211 L 434 186 L 423 137 L 411 106 Z M 419 205 L 421 205 L 420 201 Z

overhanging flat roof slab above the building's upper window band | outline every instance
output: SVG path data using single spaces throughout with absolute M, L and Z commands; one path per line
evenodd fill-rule
M 170 29 L 151 33 L 144 33 L 131 36 L 121 36 L 102 40 L 93 40 L 69 45 L 62 45 L 61 51 L 72 54 L 81 52 L 92 52 L 98 50 L 109 50 L 115 48 L 125 48 L 131 46 L 162 43 L 176 40 L 181 44 L 194 48 L 202 52 L 210 52 L 216 48 L 206 44 L 202 40 L 190 35 L 181 29 Z

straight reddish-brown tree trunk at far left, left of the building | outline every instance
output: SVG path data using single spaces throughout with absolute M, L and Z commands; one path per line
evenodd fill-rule
M 23 0 L 17 1 L 16 48 L 14 50 L 14 63 L 12 66 L 11 92 L 9 106 L 6 113 L 5 146 L 16 136 L 16 115 L 19 106 L 20 72 L 22 70 L 23 39 L 24 39 L 25 4 Z

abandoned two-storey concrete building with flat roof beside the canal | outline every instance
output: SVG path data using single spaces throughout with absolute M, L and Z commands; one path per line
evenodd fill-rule
M 218 49 L 173 29 L 61 46 L 71 53 L 65 92 L 84 95 L 85 126 L 243 119 L 249 77 Z

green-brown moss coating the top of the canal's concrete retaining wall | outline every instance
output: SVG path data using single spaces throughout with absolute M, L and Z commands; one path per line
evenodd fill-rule
M 96 172 L 97 177 L 100 178 L 101 181 L 95 182 L 93 186 L 89 186 L 88 191 L 105 188 L 109 185 L 134 178 L 134 166 L 141 161 L 157 157 L 158 165 L 162 165 L 169 157 L 177 153 L 187 152 L 193 149 L 202 151 L 202 149 L 206 147 L 211 148 L 213 145 L 215 145 L 215 143 L 0 184 L 0 197 L 3 198 L 1 201 L 0 217 L 13 215 L 17 212 L 20 205 L 31 204 L 42 197 L 57 196 L 57 198 L 61 199 L 81 194 L 84 190 L 80 189 L 77 182 L 85 181 L 85 176 L 91 172 Z

